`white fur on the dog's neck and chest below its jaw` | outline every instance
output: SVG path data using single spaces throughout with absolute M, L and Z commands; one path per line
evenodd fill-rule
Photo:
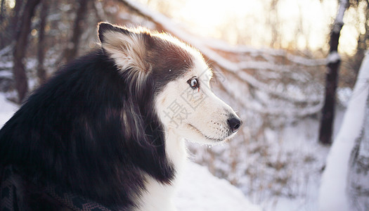
M 175 177 L 171 185 L 157 182 L 150 176 L 146 177 L 146 191 L 143 193 L 141 206 L 138 210 L 145 211 L 174 211 L 173 196 L 176 193 L 176 184 L 179 182 L 183 165 L 186 162 L 187 151 L 183 137 L 174 129 L 168 129 L 165 136 L 165 150 L 167 157 L 174 164 Z

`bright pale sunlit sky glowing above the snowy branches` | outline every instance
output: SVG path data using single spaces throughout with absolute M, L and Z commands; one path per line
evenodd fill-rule
M 150 6 L 150 1 L 154 0 L 138 1 Z M 267 11 L 271 0 L 161 2 L 165 2 L 171 11 L 166 15 L 202 37 L 225 39 L 230 44 L 267 47 L 273 40 L 271 28 L 276 27 L 280 31 L 277 47 L 311 51 L 328 50 L 330 25 L 337 13 L 337 0 L 279 0 L 276 20 L 273 13 Z M 349 25 L 344 25 L 339 43 L 339 51 L 351 55 L 356 50 L 358 35 L 355 23 L 347 20 L 352 15 L 352 11 L 347 11 L 344 21 Z

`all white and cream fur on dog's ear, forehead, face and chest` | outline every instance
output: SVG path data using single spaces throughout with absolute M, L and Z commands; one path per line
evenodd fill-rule
M 131 69 L 131 74 L 138 78 L 138 82 L 143 81 L 145 74 L 151 71 L 150 64 L 145 62 L 146 49 L 141 35 L 105 32 L 103 34 L 105 40 L 102 43 L 103 48 L 110 53 L 117 66 L 122 70 Z M 171 198 L 176 190 L 176 182 L 180 179 L 182 166 L 186 162 L 185 139 L 207 144 L 221 143 L 234 135 L 230 132 L 227 121 L 237 115 L 230 106 L 212 93 L 209 87 L 212 71 L 209 70 L 199 51 L 168 34 L 150 35 L 176 44 L 194 58 L 192 61 L 184 60 L 184 62 L 192 62 L 190 66 L 193 66 L 193 69 L 169 82 L 155 98 L 156 112 L 164 125 L 167 158 L 173 163 L 176 176 L 171 184 L 161 184 L 146 174 L 146 191 L 138 199 L 136 208 L 136 211 L 174 211 L 176 207 Z M 200 89 L 190 88 L 188 80 L 193 77 L 199 79 Z M 172 103 L 178 103 L 181 110 L 186 110 L 186 113 L 182 113 L 181 117 L 169 117 L 168 108 Z M 122 114 L 124 120 L 127 119 L 126 115 L 126 113 Z

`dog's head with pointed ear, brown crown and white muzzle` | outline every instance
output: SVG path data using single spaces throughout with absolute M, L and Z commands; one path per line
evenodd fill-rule
M 169 36 L 145 29 L 99 24 L 105 52 L 122 72 L 136 80 L 134 89 L 144 94 L 153 83 L 153 103 L 166 131 L 190 141 L 219 143 L 231 138 L 242 121 L 210 89 L 212 70 L 201 53 Z

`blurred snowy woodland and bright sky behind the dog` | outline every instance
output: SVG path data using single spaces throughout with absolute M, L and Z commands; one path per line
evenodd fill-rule
M 98 46 L 108 21 L 167 32 L 198 48 L 214 92 L 244 122 L 191 160 L 264 210 L 317 210 L 329 144 L 318 141 L 337 0 L 1 0 L 0 91 L 20 103 L 61 65 Z M 340 31 L 337 134 L 369 46 L 368 0 L 349 0 Z M 0 104 L 1 110 L 1 104 Z

